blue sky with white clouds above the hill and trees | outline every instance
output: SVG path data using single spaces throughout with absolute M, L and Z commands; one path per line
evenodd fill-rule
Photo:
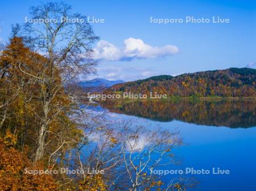
M 42 2 L 1 1 L 0 40 L 7 42 L 11 24 L 24 23 L 30 17 L 29 8 Z M 255 1 L 63 2 L 74 13 L 104 20 L 92 23 L 100 36 L 94 45 L 99 64 L 97 75 L 89 79 L 133 81 L 161 74 L 256 67 Z M 218 23 L 213 23 L 217 18 Z

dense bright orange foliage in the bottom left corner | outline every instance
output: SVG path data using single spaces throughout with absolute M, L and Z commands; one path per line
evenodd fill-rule
M 27 159 L 26 153 L 10 146 L 15 144 L 11 142 L 13 136 L 10 133 L 7 136 L 8 138 L 4 140 L 0 139 L 0 190 L 57 190 L 57 184 L 52 176 L 47 174 L 31 175 L 24 172 L 25 168 L 43 169 L 43 165 L 31 163 Z

